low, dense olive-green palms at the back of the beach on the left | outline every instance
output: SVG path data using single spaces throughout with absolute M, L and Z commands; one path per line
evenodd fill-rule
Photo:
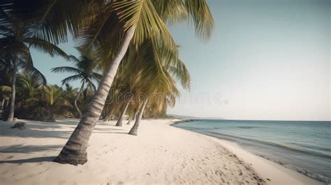
M 10 95 L 12 93 L 12 76 L 0 64 L 0 99 L 3 109 L 2 118 L 8 118 L 10 110 Z M 73 67 L 74 68 L 74 67 Z M 6 69 L 6 70 L 5 70 Z M 84 90 L 73 88 L 69 83 L 63 87 L 57 85 L 47 85 L 45 79 L 34 76 L 27 70 L 20 70 L 16 74 L 15 83 L 15 117 L 29 120 L 55 121 L 55 115 L 62 115 L 66 118 L 78 118 L 80 115 L 75 108 L 80 104 L 80 108 L 86 108 L 88 101 L 93 95 L 93 90 L 87 87 Z M 80 96 L 82 94 L 82 96 Z M 78 103 L 77 103 L 78 102 Z

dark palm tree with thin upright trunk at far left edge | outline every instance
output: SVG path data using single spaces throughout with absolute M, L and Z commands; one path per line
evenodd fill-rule
M 4 61 L 9 64 L 11 70 L 11 100 L 8 121 L 13 122 L 15 109 L 15 85 L 17 71 L 21 66 L 27 70 L 36 70 L 30 54 L 30 48 L 41 50 L 50 54 L 50 56 L 59 55 L 68 58 L 66 53 L 34 33 L 34 26 L 22 22 L 20 19 L 11 17 L 0 8 L 0 55 Z

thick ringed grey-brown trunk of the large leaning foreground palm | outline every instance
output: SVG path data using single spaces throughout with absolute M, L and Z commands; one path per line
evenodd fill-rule
M 111 61 L 108 66 L 101 83 L 96 90 L 89 108 L 84 113 L 83 117 L 80 119 L 80 123 L 71 134 L 68 142 L 64 145 L 59 156 L 54 159 L 58 163 L 70 163 L 73 165 L 84 164 L 87 162 L 87 143 L 89 138 L 96 126 L 96 122 L 100 118 L 103 106 L 105 105 L 105 99 L 109 93 L 110 87 L 112 86 L 112 81 L 121 63 L 122 58 L 128 50 L 128 45 L 133 38 L 133 33 L 135 29 L 130 29 L 125 35 L 122 44 L 119 46 L 119 50 L 115 58 Z

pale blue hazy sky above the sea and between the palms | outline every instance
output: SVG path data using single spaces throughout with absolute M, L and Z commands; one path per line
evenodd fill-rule
M 168 113 L 249 120 L 330 120 L 330 0 L 210 0 L 209 42 L 188 24 L 170 26 L 191 73 Z M 74 43 L 60 45 L 77 55 Z M 69 65 L 33 51 L 49 83 Z M 78 82 L 74 84 L 78 86 Z

